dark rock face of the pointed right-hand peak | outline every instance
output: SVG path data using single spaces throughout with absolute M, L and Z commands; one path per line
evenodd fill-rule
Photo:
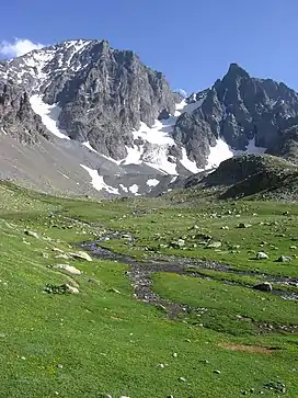
M 174 133 L 200 164 L 208 144 L 213 147 L 219 138 L 236 150 L 244 151 L 251 139 L 256 147 L 270 148 L 284 128 L 297 124 L 298 94 L 284 83 L 251 78 L 237 64 L 204 93 L 202 105 L 186 121 L 181 115 Z

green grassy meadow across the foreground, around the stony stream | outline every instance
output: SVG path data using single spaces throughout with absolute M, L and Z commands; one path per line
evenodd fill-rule
M 213 328 L 196 327 L 187 319 L 186 322 L 167 320 L 156 308 L 134 299 L 123 264 L 99 260 L 69 262 L 84 272 L 73 276 L 80 285 L 80 294 L 51 296 L 43 293 L 46 283 L 68 282 L 67 275 L 48 268 L 58 261 L 53 258 L 51 248 L 67 252 L 71 250 L 69 243 L 94 238 L 103 228 L 131 230 L 138 237 L 135 247 L 127 246 L 124 240 L 110 245 L 144 258 L 151 255 L 150 250 L 144 250 L 146 246 L 156 248 L 160 242 L 188 236 L 188 228 L 198 224 L 199 230 L 210 231 L 215 239 L 225 240 L 225 247 L 226 241 L 240 243 L 241 252 L 220 253 L 200 247 L 195 250 L 165 248 L 161 252 L 205 255 L 227 261 L 236 268 L 297 275 L 297 260 L 290 264 L 273 261 L 280 253 L 288 254 L 289 246 L 295 245 L 291 238 L 297 235 L 297 206 L 239 204 L 240 217 L 218 219 L 210 218 L 209 214 L 226 213 L 231 208 L 229 204 L 216 205 L 216 209 L 214 206 L 169 209 L 161 200 L 96 204 L 41 196 L 11 185 L 0 185 L 0 397 L 46 398 L 56 396 L 57 391 L 59 397 L 67 398 L 93 398 L 100 397 L 100 393 L 130 398 L 171 394 L 174 397 L 229 398 L 240 396 L 242 389 L 263 389 L 263 384 L 272 379 L 286 384 L 287 397 L 298 396 L 297 372 L 294 371 L 298 366 L 295 336 L 252 336 L 243 330 L 238 334 L 230 322 L 229 328 L 236 330 L 231 334 L 228 327 L 216 332 Z M 285 209 L 289 209 L 289 216 L 283 216 Z M 53 227 L 48 217 L 51 212 L 91 223 L 91 226 L 54 217 L 56 227 Z M 257 216 L 252 219 L 254 212 Z M 234 213 L 239 213 L 238 208 Z M 251 220 L 253 227 L 237 229 L 236 225 L 242 220 Z M 276 234 L 268 226 L 259 226 L 260 221 L 273 220 L 278 223 Z M 221 230 L 222 224 L 229 225 L 230 229 Z M 68 226 L 71 228 L 65 229 Z M 51 240 L 26 237 L 24 228 L 38 231 L 41 237 L 44 234 Z M 276 236 L 279 229 L 286 237 Z M 154 240 L 156 234 L 164 238 Z M 31 245 L 24 243 L 23 238 Z M 255 249 L 262 240 L 278 246 L 278 250 L 266 250 L 272 257 L 266 262 L 249 261 L 247 250 Z M 42 253 L 48 253 L 49 258 L 43 258 Z M 207 294 L 215 282 L 164 274 L 157 275 L 156 281 L 156 288 L 164 296 L 211 307 Z M 218 302 L 222 286 L 216 282 Z M 117 288 L 121 294 L 111 288 Z M 251 292 L 247 297 L 247 291 L 242 292 L 241 287 L 225 285 L 225 289 L 228 291 L 221 305 L 225 311 L 241 309 L 256 318 L 268 315 L 268 320 L 295 321 L 296 303 L 274 297 L 274 305 L 266 302 L 270 311 L 264 314 L 260 306 L 250 307 L 251 303 L 260 303 L 259 298 L 264 294 Z M 231 305 L 233 297 L 239 300 L 237 305 Z M 222 349 L 218 346 L 222 341 L 274 345 L 283 350 L 270 353 L 268 357 L 267 354 Z M 173 352 L 177 357 L 173 357 Z M 169 366 L 157 367 L 160 363 Z M 58 364 L 62 368 L 58 368 Z M 215 369 L 221 374 L 215 374 Z M 186 378 L 185 383 L 179 382 L 181 376 Z M 276 396 L 263 390 L 264 397 Z

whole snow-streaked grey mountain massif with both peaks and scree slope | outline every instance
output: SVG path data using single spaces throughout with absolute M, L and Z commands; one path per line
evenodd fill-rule
M 0 62 L 1 178 L 50 193 L 158 194 L 236 155 L 296 161 L 297 126 L 298 94 L 237 64 L 185 98 L 106 41 Z

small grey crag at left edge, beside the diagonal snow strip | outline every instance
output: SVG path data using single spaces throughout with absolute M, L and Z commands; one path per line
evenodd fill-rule
M 26 92 L 10 83 L 0 82 L 0 127 L 3 134 L 25 144 L 38 141 L 39 135 L 49 139 L 42 120 L 36 115 Z

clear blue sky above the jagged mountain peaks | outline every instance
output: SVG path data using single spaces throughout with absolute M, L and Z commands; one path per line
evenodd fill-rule
M 106 38 L 195 91 L 230 62 L 298 90 L 297 0 L 1 0 L 0 42 Z

